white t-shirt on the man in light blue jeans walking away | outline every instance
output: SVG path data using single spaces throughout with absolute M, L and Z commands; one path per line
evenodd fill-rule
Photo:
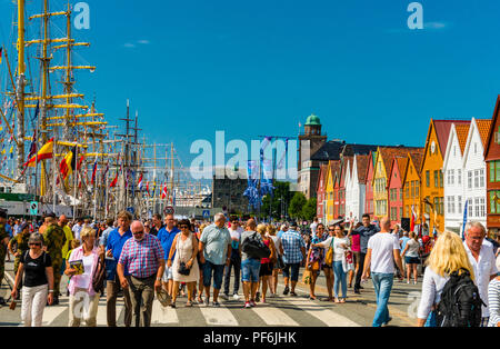
M 394 273 L 393 250 L 399 251 L 399 240 L 390 232 L 377 232 L 368 240 L 371 249 L 371 272 Z

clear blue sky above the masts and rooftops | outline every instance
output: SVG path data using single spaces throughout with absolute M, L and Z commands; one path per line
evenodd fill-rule
M 98 69 L 78 90 L 114 124 L 129 98 L 186 163 L 217 130 L 250 144 L 297 136 L 312 112 L 329 139 L 423 146 L 430 118 L 491 118 L 500 93 L 499 1 L 419 1 L 417 31 L 409 0 L 87 2 L 91 29 L 73 32 L 92 46 L 76 60 Z M 2 44 L 12 9 L 0 1 Z

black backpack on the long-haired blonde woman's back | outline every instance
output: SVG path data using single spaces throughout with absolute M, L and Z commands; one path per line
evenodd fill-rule
M 481 325 L 481 305 L 479 289 L 466 269 L 450 275 L 441 293 L 436 311 L 438 327 L 479 327 Z M 484 305 L 486 306 L 486 305 Z

